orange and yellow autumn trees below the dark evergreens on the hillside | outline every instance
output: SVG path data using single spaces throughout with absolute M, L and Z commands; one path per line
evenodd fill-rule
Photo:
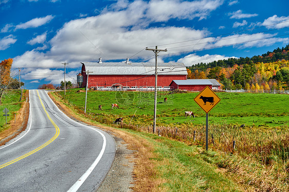
M 192 69 L 192 68 L 190 68 Z M 202 76 L 200 75 L 202 74 Z M 222 89 L 289 89 L 289 61 L 257 62 L 191 70 L 191 79 L 216 79 Z

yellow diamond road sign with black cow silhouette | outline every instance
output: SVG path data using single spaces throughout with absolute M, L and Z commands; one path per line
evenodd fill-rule
M 198 95 L 195 97 L 194 101 L 206 112 L 208 113 L 216 104 L 218 104 L 221 99 L 216 95 L 210 87 L 205 87 Z

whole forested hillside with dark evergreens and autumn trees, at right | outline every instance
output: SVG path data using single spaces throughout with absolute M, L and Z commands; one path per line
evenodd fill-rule
M 289 89 L 289 45 L 249 57 L 198 63 L 188 79 L 216 79 L 222 89 Z

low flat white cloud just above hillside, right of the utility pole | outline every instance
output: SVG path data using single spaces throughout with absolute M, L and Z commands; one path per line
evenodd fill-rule
M 184 63 L 186 66 L 192 66 L 197 63 L 209 63 L 218 60 L 227 60 L 229 58 L 237 58 L 234 56 L 224 56 L 219 54 L 209 55 L 205 54 L 203 56 L 199 56 L 196 53 L 189 54 L 182 59 L 179 59 L 177 62 Z

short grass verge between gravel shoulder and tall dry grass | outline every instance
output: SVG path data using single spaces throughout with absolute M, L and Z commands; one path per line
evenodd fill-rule
M 217 165 L 218 153 L 204 151 L 165 137 L 125 129 L 153 145 L 156 180 L 164 180 L 156 191 L 242 191 L 242 186 Z

